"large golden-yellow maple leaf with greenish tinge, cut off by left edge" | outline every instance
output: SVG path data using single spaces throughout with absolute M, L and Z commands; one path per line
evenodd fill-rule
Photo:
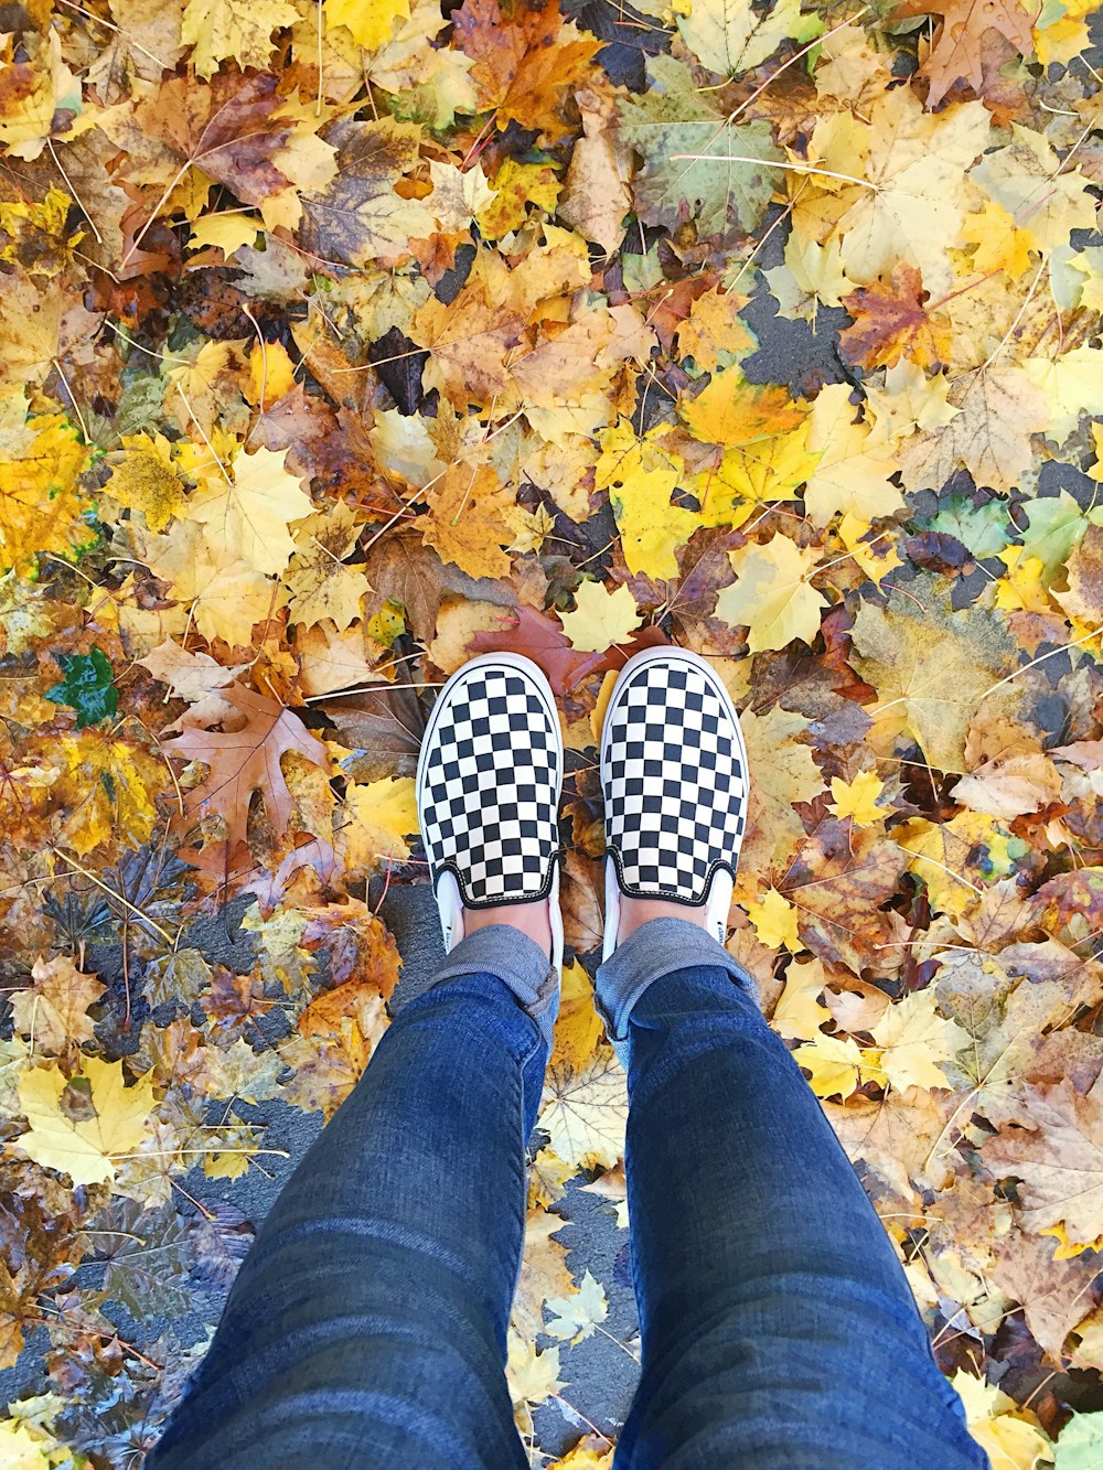
M 29 442 L 0 454 L 0 547 L 4 564 L 22 573 L 43 553 L 72 562 L 97 538 L 78 484 L 91 457 L 79 432 L 60 413 L 32 417 L 26 428 Z

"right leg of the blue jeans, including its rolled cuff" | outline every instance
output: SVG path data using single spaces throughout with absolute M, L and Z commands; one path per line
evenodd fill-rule
M 619 1470 L 985 1466 L 815 1095 L 691 928 L 644 925 L 599 975 L 628 1050 L 643 1338 Z

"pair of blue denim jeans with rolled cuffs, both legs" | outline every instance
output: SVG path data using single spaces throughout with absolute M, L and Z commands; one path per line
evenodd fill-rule
M 288 1180 L 151 1470 L 506 1470 L 503 1363 L 547 957 L 478 931 Z M 749 978 L 656 919 L 599 972 L 628 1057 L 643 1377 L 618 1470 L 987 1458 L 906 1277 Z

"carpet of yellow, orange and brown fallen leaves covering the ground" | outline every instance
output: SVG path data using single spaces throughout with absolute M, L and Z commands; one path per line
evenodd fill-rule
M 578 756 L 565 920 L 585 966 L 509 1363 L 526 1432 L 566 1402 L 557 1344 L 607 1307 L 554 1205 L 588 1172 L 625 1223 L 624 1078 L 587 973 L 594 747 L 616 667 L 671 638 L 744 711 L 729 947 L 974 1432 L 1002 1464 L 1090 1463 L 1088 7 L 909 0 L 843 24 L 643 0 L 616 29 L 631 85 L 556 0 L 19 13 L 0 40 L 0 1348 L 10 1364 L 37 1332 L 49 1391 L 10 1405 L 0 1449 L 106 1466 L 156 1436 L 201 1345 L 129 1342 L 113 1304 L 141 1324 L 224 1288 L 247 1227 L 201 1180 L 274 1157 L 251 1104 L 328 1116 L 354 1085 L 399 978 L 363 885 L 421 876 L 431 688 L 491 647 L 547 669 Z M 782 331 L 785 382 L 759 353 Z M 203 925 L 228 901 L 218 963 Z M 563 1463 L 606 1461 L 596 1439 Z

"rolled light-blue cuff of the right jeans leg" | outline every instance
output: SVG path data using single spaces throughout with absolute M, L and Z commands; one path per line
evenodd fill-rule
M 628 1039 L 632 1008 L 649 985 L 665 975 L 699 966 L 727 970 L 732 983 L 757 1001 L 754 978 L 700 925 L 690 919 L 649 919 L 640 925 L 597 970 L 597 1010 L 609 1029 L 609 1039 Z

